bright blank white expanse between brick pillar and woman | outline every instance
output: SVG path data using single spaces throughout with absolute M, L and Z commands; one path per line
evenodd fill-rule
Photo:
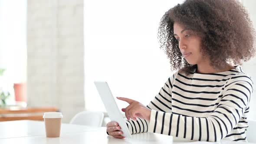
M 93 81 L 144 105 L 171 75 L 158 43 L 161 17 L 183 0 L 85 0 L 85 106 L 105 111 Z M 100 3 L 100 4 L 99 4 Z M 116 99 L 116 98 L 115 98 Z M 119 108 L 128 106 L 117 100 Z

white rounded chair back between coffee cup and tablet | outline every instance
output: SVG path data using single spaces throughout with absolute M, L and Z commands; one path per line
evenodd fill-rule
M 76 114 L 69 124 L 101 127 L 104 114 L 101 111 L 82 111 Z

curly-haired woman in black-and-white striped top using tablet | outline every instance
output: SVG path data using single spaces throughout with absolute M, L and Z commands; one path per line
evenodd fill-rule
M 147 106 L 118 98 L 129 103 L 122 111 L 131 134 L 246 141 L 253 82 L 240 64 L 254 56 L 254 36 L 237 0 L 185 0 L 168 10 L 158 38 L 177 71 Z M 107 133 L 124 138 L 115 121 L 107 124 Z

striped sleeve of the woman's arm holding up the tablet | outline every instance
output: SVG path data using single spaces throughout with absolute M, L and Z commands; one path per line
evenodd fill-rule
M 175 74 L 174 74 L 175 75 Z M 147 105 L 148 108 L 155 111 L 163 111 L 171 113 L 171 88 L 173 87 L 174 75 L 167 79 L 164 86 L 160 89 L 158 95 Z M 147 132 L 149 121 L 137 118 L 137 121 L 125 118 L 125 122 L 131 134 Z

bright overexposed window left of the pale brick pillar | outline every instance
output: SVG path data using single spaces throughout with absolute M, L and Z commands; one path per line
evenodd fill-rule
M 26 82 L 26 6 L 26 0 L 0 0 L 0 69 L 6 69 L 0 87 L 12 96 L 13 83 Z

